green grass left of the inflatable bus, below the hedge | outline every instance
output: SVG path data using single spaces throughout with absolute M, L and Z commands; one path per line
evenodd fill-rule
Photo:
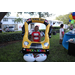
M 22 42 L 16 42 L 0 48 L 0 62 L 25 62 L 22 54 Z

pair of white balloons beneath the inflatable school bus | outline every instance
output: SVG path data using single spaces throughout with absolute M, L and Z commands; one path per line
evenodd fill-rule
M 26 62 L 34 62 L 34 61 L 43 62 L 43 61 L 45 61 L 47 59 L 47 55 L 43 54 L 43 53 L 40 53 L 40 54 L 37 54 L 36 57 L 34 57 L 33 53 L 29 53 L 29 54 L 25 54 L 23 56 L 23 59 Z

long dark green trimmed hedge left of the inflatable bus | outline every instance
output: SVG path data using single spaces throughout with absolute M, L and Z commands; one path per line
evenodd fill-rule
M 1 34 L 0 43 L 22 40 L 21 33 Z

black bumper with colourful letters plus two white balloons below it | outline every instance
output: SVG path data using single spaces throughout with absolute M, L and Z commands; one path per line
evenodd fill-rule
M 47 54 L 49 54 L 49 50 L 47 49 L 22 49 L 23 59 L 26 62 L 43 62 L 47 59 Z M 34 56 L 36 55 L 36 57 Z

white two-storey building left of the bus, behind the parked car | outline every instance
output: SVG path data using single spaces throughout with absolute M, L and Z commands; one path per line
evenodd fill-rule
M 15 18 L 19 18 L 19 17 L 11 17 L 11 16 L 7 17 L 7 16 L 5 16 L 1 20 L 1 23 L 2 23 L 1 28 L 2 28 L 2 30 L 4 31 L 5 28 L 6 27 L 9 27 L 9 26 L 13 26 L 14 29 L 15 30 L 18 30 L 18 31 L 22 30 L 21 27 L 23 26 L 23 24 L 26 21 L 26 19 L 25 18 L 22 18 L 23 19 L 23 23 L 21 23 L 21 22 L 16 23 L 16 22 L 14 22 Z

